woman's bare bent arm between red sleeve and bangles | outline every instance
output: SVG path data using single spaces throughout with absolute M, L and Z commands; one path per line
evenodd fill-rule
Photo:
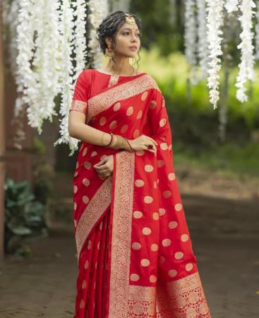
M 85 114 L 71 110 L 68 115 L 68 134 L 71 137 L 97 146 L 108 145 L 111 135 L 85 124 Z

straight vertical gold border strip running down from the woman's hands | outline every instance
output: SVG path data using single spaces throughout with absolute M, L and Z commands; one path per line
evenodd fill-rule
M 109 317 L 126 317 L 131 254 L 135 152 L 116 153 Z M 113 270 L 115 269 L 115 270 Z

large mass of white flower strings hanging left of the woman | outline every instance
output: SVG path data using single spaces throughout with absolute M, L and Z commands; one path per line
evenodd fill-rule
M 57 115 L 54 99 L 61 94 L 61 136 L 54 146 L 68 143 L 72 155 L 78 139 L 68 134 L 68 114 L 87 56 L 86 1 L 5 0 L 3 18 L 18 90 L 14 117 L 27 111 L 28 124 L 41 134 L 44 119 Z

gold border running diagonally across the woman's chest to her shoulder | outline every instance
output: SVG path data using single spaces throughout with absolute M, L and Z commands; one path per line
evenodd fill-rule
M 92 117 L 107 110 L 114 102 L 126 100 L 151 88 L 160 90 L 155 79 L 145 74 L 93 96 L 88 100 L 88 122 Z

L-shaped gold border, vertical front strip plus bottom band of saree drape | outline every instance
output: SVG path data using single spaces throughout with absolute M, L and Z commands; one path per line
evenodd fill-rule
M 211 318 L 198 271 L 157 286 L 130 285 L 135 152 L 116 153 L 109 318 Z

